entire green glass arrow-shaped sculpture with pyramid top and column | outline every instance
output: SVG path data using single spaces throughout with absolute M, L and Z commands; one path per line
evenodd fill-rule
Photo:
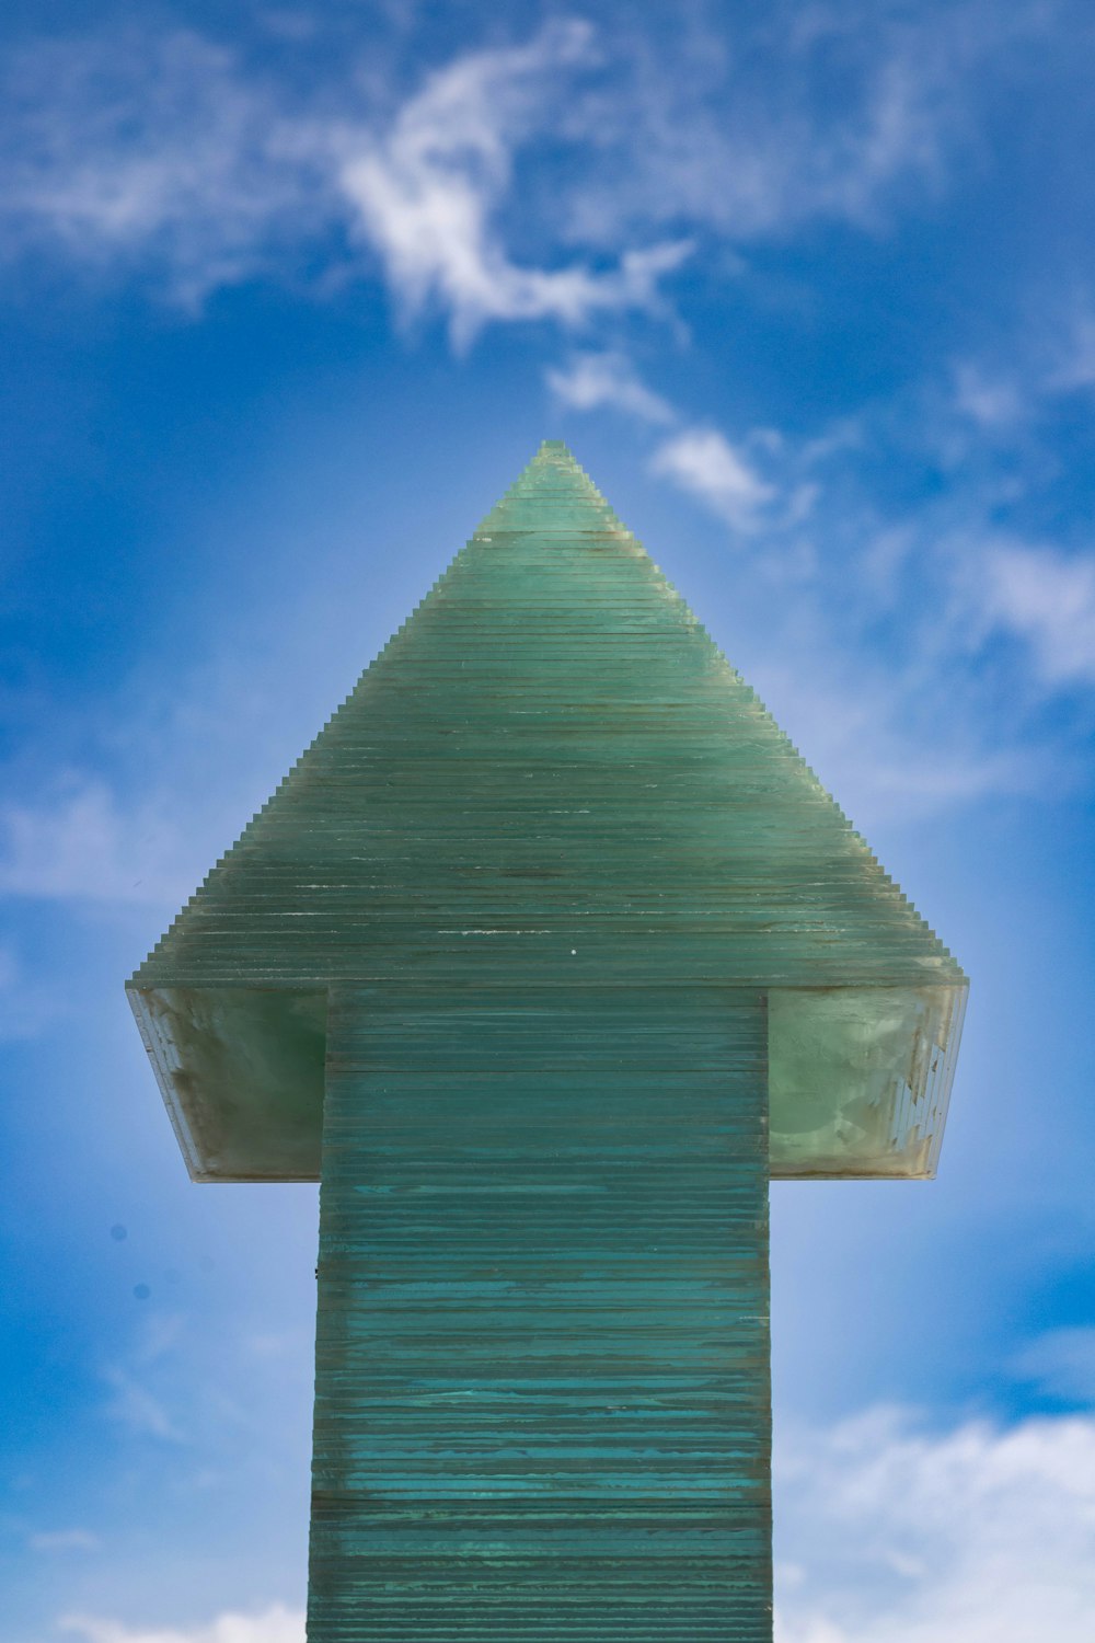
M 561 444 L 130 999 L 322 1183 L 310 1643 L 770 1638 L 768 1178 L 934 1173 L 965 979 Z

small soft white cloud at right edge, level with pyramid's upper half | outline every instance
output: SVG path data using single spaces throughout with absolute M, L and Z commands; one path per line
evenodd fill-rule
M 1095 555 L 990 547 L 970 596 L 983 629 L 1003 629 L 1029 644 L 1046 683 L 1095 683 Z

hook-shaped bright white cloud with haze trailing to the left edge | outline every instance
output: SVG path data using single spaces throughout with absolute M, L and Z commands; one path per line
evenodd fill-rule
M 7 87 L 3 242 L 156 269 L 192 307 L 256 274 L 297 276 L 317 253 L 320 284 L 379 258 L 404 314 L 435 304 L 458 342 L 489 320 L 657 307 L 686 242 L 537 266 L 497 225 L 515 151 L 550 135 L 568 74 L 591 62 L 586 23 L 550 23 L 525 46 L 456 56 L 384 118 L 361 84 L 317 110 L 190 31 L 39 43 Z

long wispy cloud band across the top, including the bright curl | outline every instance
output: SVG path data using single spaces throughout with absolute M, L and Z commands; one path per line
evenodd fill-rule
M 739 33 L 727 54 L 557 18 L 417 84 L 350 51 L 322 87 L 194 30 L 30 43 L 3 85 L 0 250 L 140 274 L 190 307 L 251 278 L 322 291 L 379 268 L 404 314 L 437 311 L 466 343 L 489 322 L 658 311 L 698 237 L 877 227 L 909 179 L 946 173 L 955 99 L 931 30 L 831 21 L 775 54 Z

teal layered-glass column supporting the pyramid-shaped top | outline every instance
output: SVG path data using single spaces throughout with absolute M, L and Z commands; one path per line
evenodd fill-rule
M 765 1043 L 332 991 L 309 1643 L 770 1640 Z

